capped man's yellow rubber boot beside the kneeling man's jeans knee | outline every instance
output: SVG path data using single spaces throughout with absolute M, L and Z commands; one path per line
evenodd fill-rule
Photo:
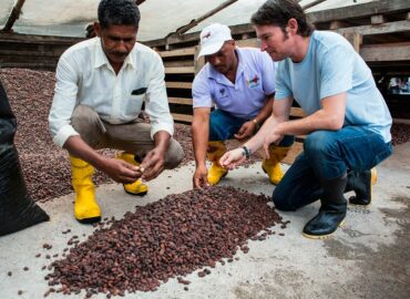
M 281 162 L 287 153 L 289 152 L 290 146 L 269 146 L 269 158 L 264 158 L 262 163 L 262 168 L 268 175 L 271 184 L 277 185 L 284 177 L 284 173 L 280 168 L 279 162 Z

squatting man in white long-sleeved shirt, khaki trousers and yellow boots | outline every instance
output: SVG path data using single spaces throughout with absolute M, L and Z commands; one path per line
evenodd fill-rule
M 166 96 L 164 66 L 150 48 L 136 43 L 140 11 L 132 0 L 102 0 L 98 38 L 66 50 L 57 68 L 49 122 L 53 141 L 70 153 L 80 223 L 101 219 L 92 175 L 94 167 L 145 195 L 151 181 L 183 158 L 172 138 L 173 118 Z M 145 102 L 151 124 L 137 116 Z M 107 158 L 95 150 L 124 153 Z

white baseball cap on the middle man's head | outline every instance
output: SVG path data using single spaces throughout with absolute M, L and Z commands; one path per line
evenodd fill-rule
M 230 41 L 230 29 L 227 25 L 214 23 L 201 31 L 201 51 L 198 56 L 211 55 L 221 50 L 224 42 Z

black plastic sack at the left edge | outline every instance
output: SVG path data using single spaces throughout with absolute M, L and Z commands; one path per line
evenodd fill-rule
M 28 195 L 13 140 L 17 121 L 0 81 L 0 236 L 50 219 Z

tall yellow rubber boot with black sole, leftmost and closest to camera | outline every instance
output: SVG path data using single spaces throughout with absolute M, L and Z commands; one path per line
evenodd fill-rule
M 74 217 L 83 224 L 101 220 L 101 210 L 95 200 L 95 187 L 92 182 L 94 167 L 85 161 L 70 156 L 72 185 L 75 192 Z

